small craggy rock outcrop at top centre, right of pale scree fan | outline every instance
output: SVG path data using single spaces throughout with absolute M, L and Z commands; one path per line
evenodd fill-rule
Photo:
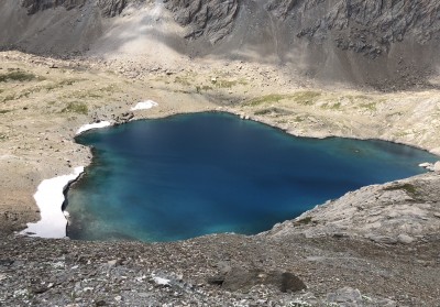
M 212 44 L 231 33 L 239 10 L 238 0 L 164 0 L 174 19 L 188 26 L 187 39 L 205 35 Z

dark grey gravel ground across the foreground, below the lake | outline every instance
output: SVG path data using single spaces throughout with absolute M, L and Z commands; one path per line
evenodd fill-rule
M 0 243 L 0 305 L 439 306 L 439 239 L 216 234 L 146 244 L 9 235 Z M 295 276 L 307 288 L 265 276 Z

